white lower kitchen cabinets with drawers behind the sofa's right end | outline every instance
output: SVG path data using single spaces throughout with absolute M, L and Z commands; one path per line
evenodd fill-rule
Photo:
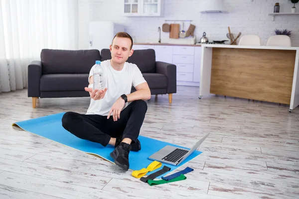
M 199 86 L 201 46 L 133 45 L 134 50 L 149 48 L 156 61 L 176 65 L 176 85 Z

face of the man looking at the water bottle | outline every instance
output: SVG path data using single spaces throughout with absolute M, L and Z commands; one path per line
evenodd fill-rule
M 115 37 L 110 45 L 111 57 L 115 63 L 123 64 L 133 54 L 130 50 L 131 39 L 124 37 Z

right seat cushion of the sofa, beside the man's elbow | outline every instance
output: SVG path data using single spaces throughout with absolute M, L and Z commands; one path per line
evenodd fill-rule
M 143 73 L 145 80 L 148 82 L 150 89 L 167 88 L 167 77 L 157 73 Z

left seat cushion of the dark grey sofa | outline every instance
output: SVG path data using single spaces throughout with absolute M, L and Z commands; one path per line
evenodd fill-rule
M 84 91 L 89 74 L 49 74 L 40 78 L 40 91 Z

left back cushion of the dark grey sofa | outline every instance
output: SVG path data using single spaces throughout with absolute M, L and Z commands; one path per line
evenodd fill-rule
M 96 60 L 101 60 L 99 50 L 52 50 L 40 53 L 42 74 L 88 74 Z

